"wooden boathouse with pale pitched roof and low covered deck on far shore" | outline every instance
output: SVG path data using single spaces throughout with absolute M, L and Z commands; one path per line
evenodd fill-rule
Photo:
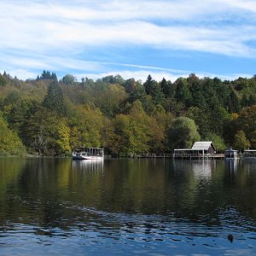
M 216 154 L 212 142 L 195 142 L 192 148 L 174 149 L 174 158 L 207 158 Z

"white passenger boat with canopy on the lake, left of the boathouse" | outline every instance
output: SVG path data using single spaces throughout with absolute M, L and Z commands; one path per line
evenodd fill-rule
M 102 160 L 104 157 L 103 148 L 80 147 L 73 151 L 73 160 Z

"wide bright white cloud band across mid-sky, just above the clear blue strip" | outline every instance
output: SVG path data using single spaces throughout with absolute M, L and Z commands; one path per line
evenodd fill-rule
M 37 22 L 13 24 L 3 28 L 0 48 L 20 49 L 49 54 L 54 51 L 73 53 L 86 45 L 148 45 L 165 49 L 186 49 L 212 52 L 222 55 L 256 56 L 256 50 L 247 45 L 255 40 L 256 26 L 224 26 L 205 28 L 194 26 L 157 26 L 144 21 L 131 21 L 113 25 L 83 24 L 46 21 L 44 26 Z M 40 32 L 38 32 L 40 27 Z

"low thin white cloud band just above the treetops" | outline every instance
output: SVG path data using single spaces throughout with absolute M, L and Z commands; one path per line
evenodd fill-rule
M 45 62 L 44 62 L 45 61 Z M 239 77 L 243 78 L 251 78 L 251 74 L 243 73 L 235 73 L 235 74 L 215 74 L 215 73 L 201 73 L 200 71 L 189 71 L 189 70 L 178 70 L 172 68 L 163 68 L 163 67 L 150 67 L 150 66 L 140 66 L 133 65 L 128 63 L 113 63 L 113 62 L 96 62 L 96 61 L 79 61 L 79 60 L 66 60 L 61 58 L 55 59 L 45 59 L 42 62 L 31 63 L 29 59 L 26 61 L 25 59 L 20 59 L 17 63 L 13 63 L 14 67 L 1 68 L 0 73 L 6 71 L 13 77 L 17 77 L 18 79 L 35 79 L 39 73 L 30 71 L 30 64 L 38 65 L 38 70 L 40 72 L 43 69 L 49 69 L 54 71 L 56 68 L 58 70 L 65 71 L 67 68 L 71 68 L 70 74 L 72 74 L 77 79 L 89 78 L 89 79 L 102 79 L 108 75 L 120 75 L 123 79 L 131 79 L 134 78 L 136 80 L 142 80 L 143 82 L 147 79 L 148 74 L 150 74 L 153 79 L 156 81 L 160 81 L 165 78 L 167 80 L 171 80 L 172 82 L 176 81 L 178 78 L 187 78 L 189 74 L 195 73 L 199 78 L 215 78 L 218 77 L 222 80 L 234 80 Z M 49 66 L 49 61 L 51 61 L 52 68 Z M 19 62 L 24 63 L 24 67 L 19 68 L 19 65 L 15 66 L 15 64 L 19 64 Z M 41 68 L 43 67 L 43 68 Z M 55 67 L 55 68 L 54 68 Z M 112 68 L 113 67 L 113 68 Z M 129 69 L 129 68 L 132 68 Z M 125 68 L 125 69 L 124 69 Z M 108 70 L 108 71 L 107 71 Z M 111 70 L 111 71 L 109 71 Z M 65 73 L 65 72 L 64 72 Z M 67 73 L 65 73 L 67 74 Z M 59 77 L 61 79 L 61 77 Z

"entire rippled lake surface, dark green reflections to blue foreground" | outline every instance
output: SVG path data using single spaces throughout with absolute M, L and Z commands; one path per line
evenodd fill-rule
M 0 158 L 0 255 L 102 254 L 256 255 L 256 161 Z

